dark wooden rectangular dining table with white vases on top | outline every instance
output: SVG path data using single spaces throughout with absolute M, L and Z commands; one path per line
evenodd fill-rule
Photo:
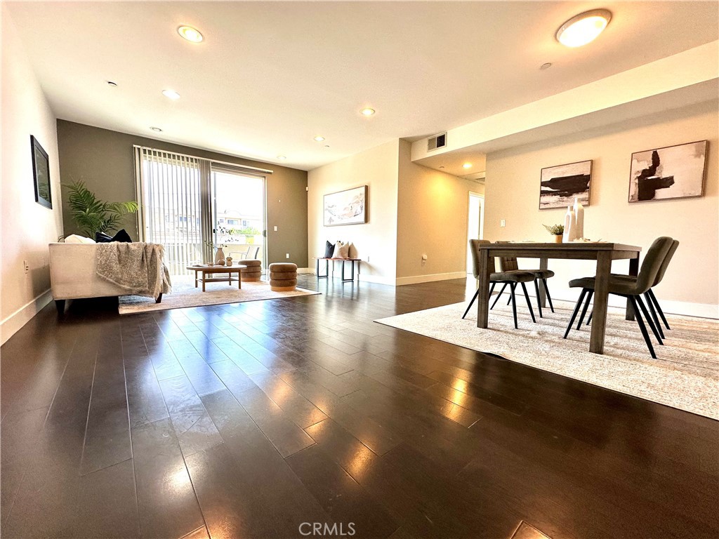
M 516 257 L 516 258 L 538 258 L 539 269 L 546 270 L 549 266 L 549 259 L 569 260 L 596 260 L 596 282 L 594 292 L 594 311 L 592 314 L 592 330 L 590 334 L 589 349 L 595 354 L 604 353 L 604 336 L 607 327 L 607 308 L 609 296 L 609 277 L 612 271 L 612 261 L 629 259 L 629 274 L 634 277 L 639 271 L 639 252 L 641 247 L 610 243 L 605 241 L 575 241 L 571 243 L 534 243 L 534 242 L 502 242 L 502 243 L 480 243 L 477 244 L 478 262 L 477 285 L 479 295 L 477 296 L 477 327 L 489 327 L 489 300 L 490 300 L 490 274 L 488 262 L 490 257 Z M 577 275 L 585 277 L 585 275 Z M 545 292 L 541 288 L 540 297 L 537 298 L 541 305 L 545 305 Z M 627 300 L 626 319 L 634 319 L 634 311 L 631 303 Z

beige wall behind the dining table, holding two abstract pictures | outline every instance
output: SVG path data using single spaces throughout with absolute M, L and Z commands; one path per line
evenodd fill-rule
M 666 111 L 531 144 L 487 156 L 485 238 L 490 240 L 549 239 L 542 224 L 562 223 L 566 209 L 539 211 L 542 167 L 594 160 L 591 206 L 585 210 L 585 236 L 646 248 L 657 236 L 681 243 L 664 281 L 656 289 L 670 312 L 718 315 L 719 290 L 719 113 L 717 101 Z M 627 202 L 632 152 L 707 139 L 705 195 L 668 201 Z M 500 219 L 506 227 L 500 228 Z M 523 261 L 536 265 L 536 261 Z M 613 264 L 626 272 L 626 261 Z M 557 271 L 550 290 L 557 298 L 574 300 L 567 282 L 594 275 L 591 262 L 550 261 Z M 617 300 L 614 300 L 615 304 Z

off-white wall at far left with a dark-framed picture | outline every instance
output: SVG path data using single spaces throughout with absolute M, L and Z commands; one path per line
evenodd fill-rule
M 47 244 L 63 234 L 55 115 L 2 4 L 2 294 L 5 342 L 51 300 Z M 30 135 L 50 158 L 52 209 L 35 202 Z M 29 264 L 24 272 L 23 261 Z

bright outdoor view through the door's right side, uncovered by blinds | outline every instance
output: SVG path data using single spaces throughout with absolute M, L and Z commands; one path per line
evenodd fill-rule
M 265 178 L 212 170 L 214 243 L 225 256 L 265 260 Z M 262 264 L 264 266 L 264 264 Z

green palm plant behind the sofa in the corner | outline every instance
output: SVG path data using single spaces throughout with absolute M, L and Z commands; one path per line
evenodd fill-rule
M 81 180 L 63 183 L 70 192 L 70 216 L 83 236 L 95 238 L 97 232 L 116 231 L 122 218 L 139 209 L 137 202 L 106 202 L 96 197 Z

